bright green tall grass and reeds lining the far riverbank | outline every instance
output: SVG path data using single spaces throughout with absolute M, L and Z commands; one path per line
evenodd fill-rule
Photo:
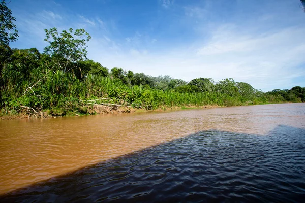
M 134 107 L 153 109 L 175 106 L 239 106 L 245 104 L 280 103 L 280 96 L 262 94 L 251 99 L 229 96 L 219 92 L 179 93 L 158 90 L 148 86 L 129 86 L 118 79 L 87 75 L 79 80 L 73 73 L 63 73 L 39 66 L 24 74 L 22 65 L 5 63 L 0 77 L 0 107 L 3 114 L 15 112 L 20 106 L 55 111 L 79 110 L 81 100 L 111 98 L 124 100 Z M 39 82 L 38 82 L 39 81 Z M 35 85 L 34 85 L 35 84 Z M 29 88 L 32 87 L 32 88 Z M 10 110 L 10 111 L 8 111 Z

